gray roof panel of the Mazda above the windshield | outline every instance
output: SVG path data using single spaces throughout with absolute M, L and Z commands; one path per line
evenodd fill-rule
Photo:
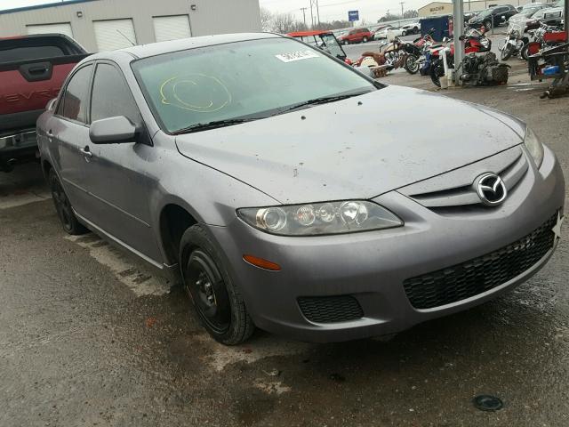
M 240 33 L 240 34 L 223 34 L 217 36 L 199 36 L 181 38 L 179 40 L 171 40 L 169 42 L 159 42 L 151 44 L 140 44 L 138 46 L 126 47 L 111 52 L 100 52 L 92 55 L 90 60 L 100 60 L 112 58 L 124 53 L 130 54 L 135 58 L 148 58 L 150 56 L 161 55 L 169 52 L 179 52 L 188 49 L 196 49 L 199 47 L 213 46 L 216 44 L 245 42 L 247 40 L 259 40 L 263 38 L 280 38 L 283 37 L 274 33 Z

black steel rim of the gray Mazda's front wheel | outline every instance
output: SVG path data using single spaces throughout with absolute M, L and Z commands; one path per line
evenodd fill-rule
M 205 324 L 216 334 L 228 331 L 231 306 L 228 291 L 212 257 L 201 249 L 189 255 L 185 271 L 186 289 Z

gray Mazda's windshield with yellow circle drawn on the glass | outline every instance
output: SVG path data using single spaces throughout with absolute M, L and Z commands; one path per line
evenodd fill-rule
M 156 120 L 169 133 L 275 116 L 309 101 L 334 101 L 381 87 L 289 38 L 164 53 L 136 60 L 132 69 Z

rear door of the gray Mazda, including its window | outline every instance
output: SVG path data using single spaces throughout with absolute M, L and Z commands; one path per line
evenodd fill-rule
M 78 68 L 61 93 L 55 114 L 47 122 L 45 137 L 55 170 L 60 174 L 69 201 L 78 214 L 84 214 L 88 200 L 81 187 L 84 157 L 79 149 L 89 141 L 87 109 L 93 65 Z

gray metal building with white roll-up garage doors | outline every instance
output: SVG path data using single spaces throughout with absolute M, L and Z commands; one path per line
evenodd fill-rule
M 0 37 L 62 33 L 88 52 L 260 31 L 259 0 L 68 0 L 0 11 Z

